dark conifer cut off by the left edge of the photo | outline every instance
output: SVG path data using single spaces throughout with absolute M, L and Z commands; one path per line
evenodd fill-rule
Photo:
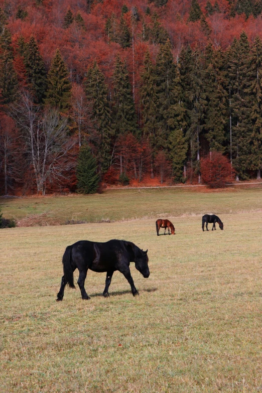
M 4 51 L 0 60 L 0 89 L 2 104 L 8 104 L 16 100 L 18 80 L 9 51 Z

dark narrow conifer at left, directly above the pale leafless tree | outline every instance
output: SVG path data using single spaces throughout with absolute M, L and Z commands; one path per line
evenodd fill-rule
M 34 92 L 37 102 L 42 102 L 47 85 L 46 69 L 44 61 L 39 52 L 39 47 L 32 36 L 26 45 L 24 52 L 24 64 L 28 82 Z

